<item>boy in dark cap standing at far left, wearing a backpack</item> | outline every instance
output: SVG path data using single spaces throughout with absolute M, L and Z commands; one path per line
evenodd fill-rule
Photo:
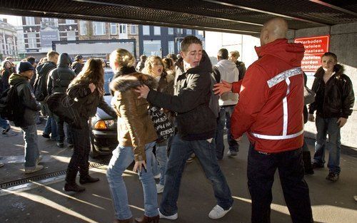
M 44 168 L 39 165 L 41 157 L 37 145 L 36 114 L 41 106 L 36 102 L 29 81 L 34 76 L 34 67 L 29 62 L 20 62 L 17 73 L 11 74 L 10 85 L 16 85 L 17 95 L 24 106 L 23 119 L 15 125 L 19 126 L 24 133 L 25 140 L 25 173 L 36 172 Z

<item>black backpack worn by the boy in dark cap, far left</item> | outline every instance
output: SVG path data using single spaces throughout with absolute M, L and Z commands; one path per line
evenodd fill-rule
M 7 88 L 0 97 L 1 118 L 14 121 L 15 125 L 23 122 L 25 113 L 25 107 L 17 94 L 17 86 L 19 84 L 21 82 Z

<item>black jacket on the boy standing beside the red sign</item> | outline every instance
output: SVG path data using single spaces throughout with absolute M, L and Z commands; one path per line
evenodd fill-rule
M 336 64 L 333 76 L 323 81 L 323 68 L 318 68 L 313 81 L 312 90 L 316 92 L 315 102 L 309 105 L 308 113 L 321 118 L 348 118 L 352 113 L 354 104 L 354 93 L 352 82 L 348 76 L 343 74 L 344 68 Z

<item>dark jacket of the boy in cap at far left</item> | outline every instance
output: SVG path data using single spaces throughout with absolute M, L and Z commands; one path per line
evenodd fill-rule
M 16 126 L 26 127 L 29 125 L 34 125 L 36 123 L 36 115 L 41 107 L 36 101 L 34 93 L 32 92 L 32 87 L 29 80 L 24 76 L 13 73 L 9 78 L 10 85 L 17 85 L 17 95 L 21 100 L 22 105 L 24 105 L 24 119 L 16 122 Z

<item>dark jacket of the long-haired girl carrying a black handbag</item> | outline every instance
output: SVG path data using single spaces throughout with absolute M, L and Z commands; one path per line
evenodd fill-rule
M 99 95 L 99 91 L 96 89 L 91 92 L 88 81 L 82 81 L 81 83 L 71 83 L 67 90 L 67 94 L 71 98 L 78 98 L 83 103 L 81 107 L 81 117 L 89 119 L 96 115 L 96 108 L 99 107 L 104 110 L 108 115 L 116 118 L 116 112 L 109 106 L 104 100 L 102 95 Z M 81 100 L 84 99 L 85 100 Z

